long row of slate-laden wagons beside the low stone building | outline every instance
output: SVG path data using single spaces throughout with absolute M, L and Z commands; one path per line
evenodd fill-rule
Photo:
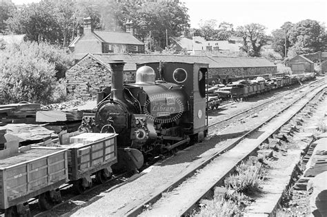
M 239 80 L 227 85 L 217 84 L 207 88 L 208 108 L 217 109 L 221 101 L 232 99 L 234 101 L 246 100 L 259 94 L 265 94 L 281 87 L 294 85 L 315 78 L 315 73 L 285 75 L 264 79 L 258 76 L 254 80 Z

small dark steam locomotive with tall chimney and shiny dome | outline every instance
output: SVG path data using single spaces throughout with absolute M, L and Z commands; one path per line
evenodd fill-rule
M 80 130 L 115 132 L 118 161 L 141 167 L 143 156 L 199 142 L 208 132 L 208 64 L 137 64 L 136 82 L 123 83 L 123 61 L 110 62 L 111 87 L 97 94 L 97 107 L 84 114 Z

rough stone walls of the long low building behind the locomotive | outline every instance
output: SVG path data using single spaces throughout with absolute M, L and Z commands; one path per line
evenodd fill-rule
M 135 82 L 135 71 L 124 71 L 126 83 Z M 257 76 L 261 74 L 276 74 L 277 67 L 259 68 L 209 68 L 208 79 L 221 76 L 229 78 Z M 66 72 L 67 92 L 81 99 L 95 99 L 97 92 L 101 92 L 111 84 L 111 72 L 108 66 L 102 65 L 88 55 Z

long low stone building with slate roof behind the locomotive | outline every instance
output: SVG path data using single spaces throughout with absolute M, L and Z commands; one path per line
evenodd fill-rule
M 208 63 L 209 82 L 216 79 L 230 82 L 235 78 L 277 73 L 277 67 L 264 58 L 231 56 L 146 55 L 146 54 L 87 54 L 66 72 L 67 91 L 78 98 L 95 98 L 97 92 L 111 83 L 110 61 L 123 60 L 126 83 L 135 81 L 136 63 L 172 61 Z

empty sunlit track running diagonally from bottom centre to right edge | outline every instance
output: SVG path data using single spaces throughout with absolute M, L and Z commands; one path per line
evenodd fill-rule
M 310 92 L 300 94 L 297 99 L 288 103 L 283 110 L 276 112 L 273 116 L 262 121 L 250 132 L 237 139 L 237 141 L 226 147 L 221 147 L 219 152 L 208 158 L 204 163 L 201 163 L 201 165 L 188 169 L 187 172 L 175 178 L 175 180 L 159 189 L 152 196 L 144 198 L 139 205 L 130 209 L 126 213 L 126 216 L 137 216 L 139 214 L 141 216 L 160 216 L 162 214 L 165 214 L 165 216 L 183 216 L 188 214 L 188 211 L 193 209 L 197 202 L 212 187 L 215 187 L 236 165 L 257 149 L 261 143 L 266 141 L 282 125 L 287 123 L 290 118 L 295 116 L 297 112 L 309 103 L 316 94 L 324 90 L 324 88 L 326 88 L 326 85 L 314 87 Z M 275 120 L 274 118 L 276 116 L 278 117 Z M 257 138 L 252 136 L 251 138 L 250 135 L 257 132 L 263 125 L 265 126 L 263 127 L 264 129 L 261 129 L 260 136 L 257 136 Z M 221 165 L 224 165 L 224 167 L 221 168 Z M 194 197 L 190 197 L 190 195 Z M 176 201 L 179 201 L 179 203 L 176 203 Z M 151 207 L 151 209 L 142 213 L 146 207 Z

